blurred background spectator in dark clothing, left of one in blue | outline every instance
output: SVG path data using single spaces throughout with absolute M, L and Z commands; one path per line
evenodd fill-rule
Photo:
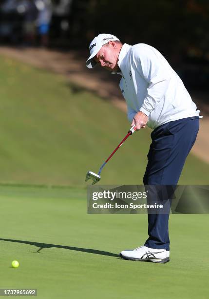
M 38 17 L 38 8 L 36 0 L 26 1 L 26 11 L 24 18 L 24 42 L 26 45 L 35 45 L 36 43 L 36 21 Z

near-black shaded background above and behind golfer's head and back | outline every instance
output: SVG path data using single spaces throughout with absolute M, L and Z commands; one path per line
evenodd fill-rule
M 2 3 L 5 0 L 0 0 Z M 14 0 L 21 2 L 22 0 Z M 190 87 L 208 89 L 209 0 L 51 0 L 49 47 L 87 50 L 99 33 L 157 48 Z M 0 13 L 0 20 L 5 13 Z M 7 16 L 8 19 L 8 16 Z M 24 19 L 19 14 L 18 24 Z M 14 21 L 13 16 L 10 22 Z M 21 43 L 19 32 L 12 43 Z M 1 43 L 5 43 L 1 41 Z

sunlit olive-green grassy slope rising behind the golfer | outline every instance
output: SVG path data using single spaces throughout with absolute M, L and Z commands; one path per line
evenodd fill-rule
M 1 182 L 85 185 L 129 123 L 107 101 L 65 78 L 0 57 Z M 103 184 L 141 184 L 150 131 L 135 133 L 102 172 Z M 209 166 L 190 155 L 180 183 L 209 183 Z

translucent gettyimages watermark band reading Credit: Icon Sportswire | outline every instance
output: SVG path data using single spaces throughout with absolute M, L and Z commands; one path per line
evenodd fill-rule
M 88 214 L 207 214 L 209 185 L 89 185 Z

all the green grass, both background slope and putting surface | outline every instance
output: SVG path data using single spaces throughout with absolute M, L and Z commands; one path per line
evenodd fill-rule
M 207 214 L 171 214 L 162 265 L 117 256 L 147 238 L 146 215 L 86 214 L 86 171 L 124 137 L 124 113 L 64 77 L 3 56 L 0 65 L 0 288 L 38 288 L 43 299 L 208 298 Z M 149 144 L 148 129 L 130 137 L 102 184 L 142 184 Z M 179 183 L 208 184 L 208 173 L 190 154 Z

